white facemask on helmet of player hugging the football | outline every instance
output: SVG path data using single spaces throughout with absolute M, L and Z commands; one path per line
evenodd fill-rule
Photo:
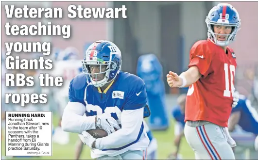
M 89 84 L 94 85 L 95 87 L 103 87 L 106 83 L 109 83 L 116 78 L 116 76 L 114 76 L 114 78 L 110 78 L 110 72 L 118 68 L 117 64 L 112 61 L 103 61 L 102 59 L 99 59 L 97 57 L 93 57 L 93 59 L 94 60 L 90 61 L 82 61 L 83 73 L 85 73 L 89 77 L 90 81 L 87 79 L 87 82 Z M 100 72 L 91 73 L 91 65 L 98 65 Z M 103 68 L 106 69 L 103 71 Z M 119 72 L 117 72 L 117 74 L 118 73 Z M 104 74 L 103 80 L 96 80 L 96 78 L 98 78 L 100 74 Z

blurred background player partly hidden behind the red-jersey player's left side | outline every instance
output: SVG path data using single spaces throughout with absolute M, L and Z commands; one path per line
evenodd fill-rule
M 177 98 L 177 106 L 175 106 L 172 110 L 172 117 L 175 120 L 174 125 L 174 145 L 175 145 L 175 152 L 173 152 L 169 157 L 168 160 L 180 160 L 181 155 L 178 154 L 181 139 L 184 136 L 184 128 L 185 128 L 185 106 L 186 106 L 186 94 L 182 94 Z

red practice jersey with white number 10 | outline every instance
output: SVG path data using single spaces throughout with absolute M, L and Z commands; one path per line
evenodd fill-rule
M 185 121 L 204 120 L 227 127 L 232 110 L 236 58 L 209 40 L 196 42 L 190 50 L 189 67 L 197 66 L 202 77 L 189 86 Z

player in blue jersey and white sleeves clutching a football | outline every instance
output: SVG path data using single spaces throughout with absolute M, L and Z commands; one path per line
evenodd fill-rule
M 146 160 L 150 140 L 143 125 L 147 102 L 143 80 L 120 71 L 120 49 L 109 41 L 90 45 L 82 64 L 83 73 L 69 85 L 62 129 L 79 133 L 92 159 Z M 95 139 L 86 132 L 96 127 L 108 136 Z

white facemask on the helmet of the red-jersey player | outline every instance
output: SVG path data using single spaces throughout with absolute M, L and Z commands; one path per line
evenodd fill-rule
M 207 32 L 208 39 L 210 39 L 211 42 L 213 42 L 214 44 L 222 47 L 228 46 L 231 42 L 235 41 L 237 32 L 240 30 L 240 22 L 236 24 L 213 22 L 213 21 L 210 21 L 208 17 L 206 17 L 206 24 L 208 28 L 208 32 Z M 230 34 L 215 33 L 213 29 L 214 25 L 232 27 L 232 31 Z M 226 36 L 225 41 L 217 40 L 217 37 L 220 35 Z

